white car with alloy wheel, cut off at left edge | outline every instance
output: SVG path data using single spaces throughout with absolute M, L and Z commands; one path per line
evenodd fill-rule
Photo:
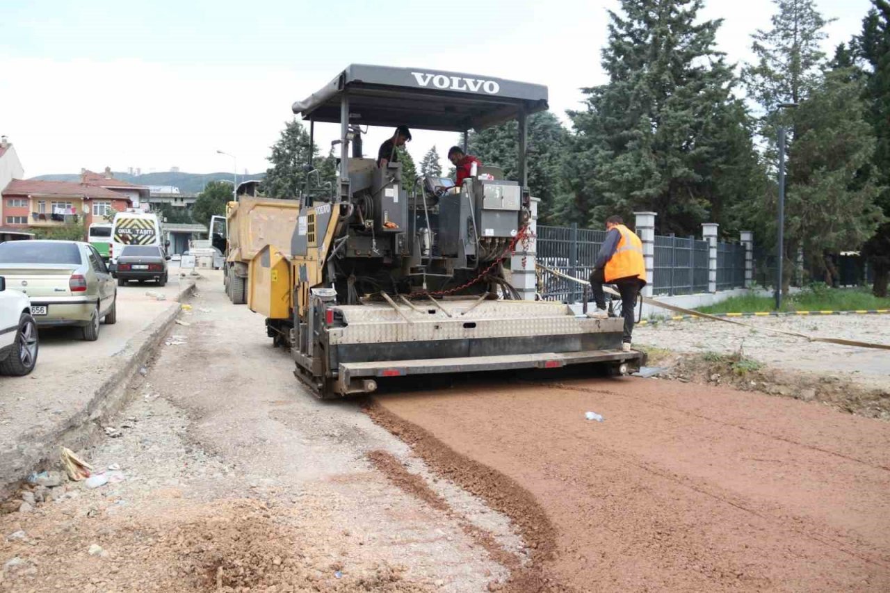
M 0 276 L 0 375 L 27 375 L 37 363 L 37 324 L 31 302 L 19 290 L 7 290 Z

